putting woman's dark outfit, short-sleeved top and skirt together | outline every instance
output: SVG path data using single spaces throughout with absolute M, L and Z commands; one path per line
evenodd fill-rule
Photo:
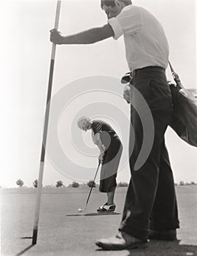
M 105 146 L 104 161 L 101 167 L 100 192 L 111 192 L 116 186 L 117 168 L 123 146 L 116 132 L 104 121 L 93 121 L 93 134 L 100 133 L 101 143 Z

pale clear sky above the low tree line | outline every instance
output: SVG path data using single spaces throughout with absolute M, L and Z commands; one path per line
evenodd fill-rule
M 175 71 L 185 88 L 196 88 L 195 1 L 134 0 L 134 4 L 147 8 L 161 21 Z M 52 48 L 49 31 L 54 26 L 55 7 L 56 1 L 47 0 L 0 4 L 1 80 L 4 81 L 1 187 L 17 187 L 18 178 L 31 187 L 38 178 Z M 107 18 L 99 0 L 62 1 L 59 23 L 62 34 L 74 34 L 105 23 Z M 93 178 L 99 151 L 91 141 L 90 132 L 77 129 L 76 121 L 81 115 L 108 121 L 115 128 L 124 146 L 117 181 L 129 181 L 129 108 L 121 98 L 120 85 L 125 72 L 128 65 L 123 38 L 94 45 L 57 46 L 50 128 L 57 129 L 58 144 L 53 138 L 47 144 L 44 186 L 55 185 L 58 180 L 68 185 L 74 180 L 85 182 Z M 169 69 L 166 74 L 172 80 Z M 53 116 L 58 113 L 58 106 L 59 116 Z M 166 145 L 175 182 L 197 182 L 197 149 L 180 140 L 170 128 L 166 132 Z M 61 154 L 65 159 L 60 159 Z M 70 161 L 68 165 L 66 159 Z

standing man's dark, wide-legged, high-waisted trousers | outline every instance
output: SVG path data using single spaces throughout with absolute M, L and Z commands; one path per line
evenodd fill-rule
M 174 178 L 164 140 L 164 133 L 171 120 L 173 107 L 164 69 L 158 67 L 137 69 L 134 72 L 133 86 L 131 86 L 129 145 L 131 181 L 119 230 L 146 240 L 149 228 L 171 230 L 179 227 Z M 140 102 L 135 93 L 136 89 L 144 97 L 147 106 Z M 144 135 L 142 120 L 151 124 L 151 121 L 146 119 L 150 111 L 154 131 L 152 141 L 152 126 L 147 125 L 146 135 Z M 136 160 L 144 141 L 152 143 L 150 154 L 139 170 L 135 170 Z

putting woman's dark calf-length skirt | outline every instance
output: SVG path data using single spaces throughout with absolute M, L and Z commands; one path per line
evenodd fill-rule
M 104 161 L 101 167 L 100 192 L 111 192 L 116 186 L 117 169 L 123 146 L 118 137 L 112 138 L 109 148 L 104 154 Z

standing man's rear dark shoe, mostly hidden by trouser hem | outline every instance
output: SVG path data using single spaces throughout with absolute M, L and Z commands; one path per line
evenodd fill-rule
M 150 240 L 164 240 L 174 241 L 177 240 L 177 230 L 149 230 Z

